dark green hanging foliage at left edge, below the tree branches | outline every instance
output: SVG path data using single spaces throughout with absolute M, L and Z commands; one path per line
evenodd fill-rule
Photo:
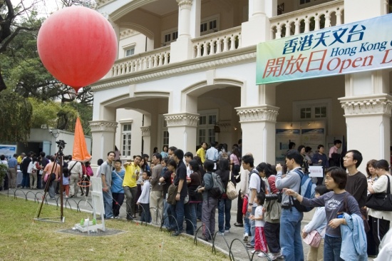
M 3 91 L 0 95 L 0 142 L 24 142 L 29 139 L 31 103 L 19 94 Z

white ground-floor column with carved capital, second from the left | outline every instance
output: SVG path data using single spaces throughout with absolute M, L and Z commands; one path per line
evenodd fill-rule
M 180 148 L 184 152 L 195 151 L 199 114 L 167 113 L 165 121 L 169 131 L 169 145 Z

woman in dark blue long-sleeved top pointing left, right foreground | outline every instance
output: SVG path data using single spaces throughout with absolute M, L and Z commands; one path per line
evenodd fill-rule
M 350 195 L 344 188 L 347 183 L 347 174 L 341 168 L 331 167 L 326 170 L 325 185 L 329 193 L 321 195 L 319 198 L 304 198 L 299 195 L 298 191 L 287 189 L 286 195 L 293 196 L 302 205 L 309 207 L 325 207 L 326 213 L 326 233 L 324 238 L 324 260 L 341 261 L 341 225 L 347 225 L 346 219 L 338 218 L 338 213 L 348 211 L 351 215 L 356 214 L 361 216 L 359 205 L 355 198 Z M 345 203 L 346 201 L 346 203 Z M 351 251 L 356 251 L 352 249 Z M 303 258 L 302 258 L 303 260 Z

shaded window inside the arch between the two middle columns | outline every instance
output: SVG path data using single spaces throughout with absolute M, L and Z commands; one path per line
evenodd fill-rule
M 197 126 L 197 144 L 205 141 L 211 144 L 217 140 L 217 133 L 214 131 L 215 123 L 217 123 L 217 110 L 199 111 L 199 125 Z

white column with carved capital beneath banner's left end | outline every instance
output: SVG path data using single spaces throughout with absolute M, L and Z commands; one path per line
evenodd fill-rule
M 242 155 L 252 153 L 254 164 L 275 163 L 275 123 L 279 108 L 269 105 L 235 108 L 242 128 Z

